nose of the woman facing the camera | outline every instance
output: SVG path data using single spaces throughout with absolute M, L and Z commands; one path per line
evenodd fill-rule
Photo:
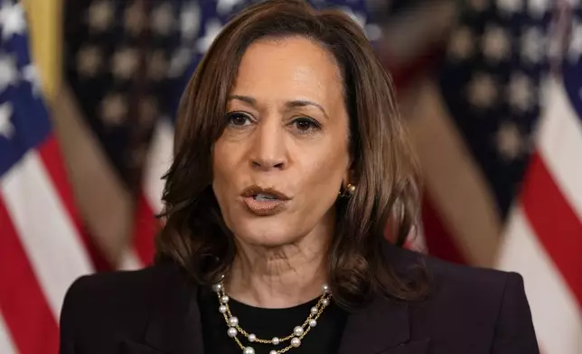
M 285 133 L 280 119 L 265 119 L 253 136 L 250 163 L 258 171 L 284 170 L 287 166 Z

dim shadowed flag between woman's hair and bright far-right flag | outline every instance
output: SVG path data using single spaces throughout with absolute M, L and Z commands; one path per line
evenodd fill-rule
M 419 144 L 427 172 L 427 243 L 437 256 L 493 265 L 501 230 L 530 160 L 540 118 L 540 80 L 548 73 L 549 2 L 471 1 L 460 10 L 436 68 L 442 120 Z M 435 103 L 422 105 L 424 108 Z M 431 115 L 434 116 L 434 115 Z M 420 122 L 412 122 L 420 125 Z M 436 149 L 438 147 L 438 149 Z

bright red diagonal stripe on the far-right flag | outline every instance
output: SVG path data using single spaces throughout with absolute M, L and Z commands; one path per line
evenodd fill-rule
M 540 154 L 534 154 L 522 187 L 523 209 L 541 244 L 582 305 L 582 220 L 564 198 Z

